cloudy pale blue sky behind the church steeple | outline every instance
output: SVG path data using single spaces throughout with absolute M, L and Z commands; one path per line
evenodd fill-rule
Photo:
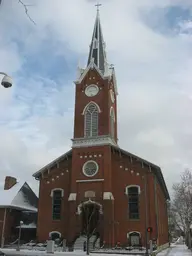
M 94 0 L 17 0 L 0 5 L 0 186 L 71 148 L 78 63 L 85 67 Z M 171 191 L 192 167 L 192 1 L 101 0 L 107 58 L 118 86 L 119 146 L 162 168 Z

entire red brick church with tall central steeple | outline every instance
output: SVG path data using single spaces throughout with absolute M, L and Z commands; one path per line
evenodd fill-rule
M 169 193 L 161 169 L 118 145 L 118 86 L 99 12 L 87 67 L 78 71 L 72 149 L 33 175 L 40 181 L 38 240 L 58 236 L 74 244 L 85 231 L 86 202 L 96 206 L 90 225 L 101 244 L 145 246 L 146 236 L 167 244 Z

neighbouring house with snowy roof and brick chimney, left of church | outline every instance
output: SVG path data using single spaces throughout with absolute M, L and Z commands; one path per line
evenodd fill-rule
M 29 241 L 36 237 L 38 197 L 25 182 L 7 176 L 4 188 L 0 189 L 0 238 L 1 247 L 18 238 L 20 221 L 21 240 Z

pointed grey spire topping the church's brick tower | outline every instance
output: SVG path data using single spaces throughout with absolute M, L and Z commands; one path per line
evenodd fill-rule
M 101 4 L 96 4 L 97 6 L 97 15 L 95 20 L 95 26 L 93 30 L 93 36 L 91 40 L 89 57 L 87 66 L 93 61 L 94 64 L 99 68 L 99 70 L 105 74 L 107 68 L 106 52 L 105 52 L 105 42 L 103 39 L 100 15 L 99 15 L 99 6 Z

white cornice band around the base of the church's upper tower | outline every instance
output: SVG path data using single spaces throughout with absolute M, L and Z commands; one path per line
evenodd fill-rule
M 111 138 L 110 135 L 102 135 L 92 138 L 75 138 L 72 139 L 72 148 L 79 147 L 91 147 L 100 145 L 113 145 L 117 146 L 117 143 Z

